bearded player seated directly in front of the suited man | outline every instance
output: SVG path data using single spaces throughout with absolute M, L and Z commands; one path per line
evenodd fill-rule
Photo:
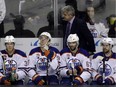
M 89 53 L 78 48 L 79 38 L 76 34 L 68 36 L 67 46 L 61 51 L 60 75 L 62 79 L 60 84 L 84 84 L 91 77 Z

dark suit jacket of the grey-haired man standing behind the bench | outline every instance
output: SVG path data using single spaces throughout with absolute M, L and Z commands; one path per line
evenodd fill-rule
M 66 30 L 66 25 L 64 27 L 64 31 Z M 70 34 L 77 34 L 79 37 L 79 47 L 89 51 L 89 52 L 95 52 L 95 44 L 93 36 L 90 32 L 90 30 L 87 27 L 87 24 L 85 21 L 78 19 L 75 17 L 73 20 Z M 65 35 L 65 34 L 64 34 Z

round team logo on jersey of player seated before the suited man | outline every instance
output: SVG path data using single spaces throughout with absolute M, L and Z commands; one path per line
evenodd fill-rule
M 68 69 L 72 69 L 73 68 L 72 65 L 74 65 L 75 68 L 77 66 L 81 66 L 82 64 L 80 60 L 71 58 L 67 63 Z

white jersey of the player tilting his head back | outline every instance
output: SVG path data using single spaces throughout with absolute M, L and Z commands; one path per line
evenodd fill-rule
M 30 79 L 36 73 L 38 73 L 40 76 L 47 76 L 47 73 L 48 75 L 56 75 L 58 68 L 58 58 L 60 57 L 60 54 L 59 51 L 54 47 L 50 46 L 49 50 L 54 51 L 56 53 L 56 57 L 52 61 L 48 60 L 48 64 L 47 57 L 44 55 L 40 47 L 34 48 L 30 51 L 28 66 L 30 68 L 30 70 L 28 71 Z

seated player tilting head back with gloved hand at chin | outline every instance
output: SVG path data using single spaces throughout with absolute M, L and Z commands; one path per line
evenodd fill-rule
M 32 49 L 29 53 L 29 85 L 50 85 L 58 84 L 56 71 L 58 67 L 58 58 L 60 55 L 58 49 L 50 46 L 51 35 L 43 32 L 39 36 L 40 47 Z

